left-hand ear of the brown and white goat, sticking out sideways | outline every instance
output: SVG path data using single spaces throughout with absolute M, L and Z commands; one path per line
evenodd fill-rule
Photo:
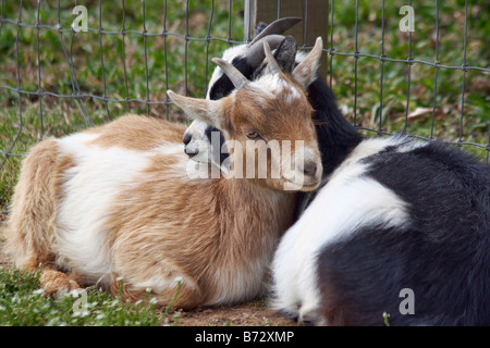
M 201 120 L 219 127 L 217 115 L 221 113 L 221 103 L 216 100 L 184 97 L 168 90 L 169 98 L 193 120 Z

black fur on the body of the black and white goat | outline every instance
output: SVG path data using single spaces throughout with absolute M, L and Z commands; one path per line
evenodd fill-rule
M 383 312 L 392 325 L 490 325 L 489 166 L 436 141 L 396 150 L 367 158 L 366 176 L 408 203 L 409 221 L 362 226 L 323 248 L 323 314 L 352 325 L 382 325 Z M 399 310 L 403 288 L 415 314 Z

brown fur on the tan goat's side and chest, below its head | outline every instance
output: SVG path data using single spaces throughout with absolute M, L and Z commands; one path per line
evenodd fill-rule
M 295 196 L 281 194 L 282 207 L 278 207 L 279 202 L 268 198 L 270 192 L 257 191 L 243 179 L 213 179 L 203 195 L 201 183 L 175 182 L 161 175 L 171 166 L 168 159 L 156 157 L 143 183 L 121 192 L 108 221 L 108 239 L 113 268 L 131 274 L 131 278 L 124 277 L 130 284 L 162 273 L 169 278 L 181 274 L 196 279 L 193 287 L 183 284 L 177 298 L 180 307 L 191 308 L 196 304 L 196 296 L 197 302 L 206 302 L 216 295 L 216 270 L 248 272 L 243 269 L 262 257 L 265 249 L 271 254 L 280 233 L 293 222 L 290 212 Z M 186 199 L 164 202 L 161 192 Z M 126 203 L 128 197 L 131 206 Z M 267 222 L 259 216 L 267 216 Z M 265 235 L 264 225 L 270 228 L 269 235 Z M 198 295 L 200 288 L 207 293 Z M 160 293 L 159 302 L 167 303 L 173 294 L 173 289 Z M 193 300 L 188 302 L 187 297 Z

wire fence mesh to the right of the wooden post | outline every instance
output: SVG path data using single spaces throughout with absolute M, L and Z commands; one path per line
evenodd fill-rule
M 388 1 L 387 1 L 388 2 Z M 490 70 L 488 67 L 482 67 L 482 66 L 474 66 L 470 65 L 468 60 L 467 60 L 467 49 L 468 49 L 468 17 L 469 17 L 469 10 L 468 10 L 468 1 L 464 1 L 463 3 L 460 2 L 460 4 L 462 4 L 462 7 L 460 9 L 457 9 L 460 12 L 456 12 L 460 14 L 460 18 L 462 18 L 462 28 L 460 29 L 461 35 L 458 37 L 456 37 L 456 40 L 458 40 L 461 42 L 460 46 L 454 47 L 453 49 L 458 51 L 461 50 L 461 54 L 460 54 L 460 62 L 462 64 L 460 65 L 449 65 L 449 64 L 444 64 L 440 61 L 440 45 L 441 41 L 443 41 L 443 37 L 441 39 L 440 37 L 440 5 L 441 5 L 442 1 L 434 1 L 433 2 L 433 21 L 434 21 L 434 37 L 432 38 L 432 42 L 433 42 L 433 61 L 425 61 L 421 59 L 417 59 L 415 58 L 415 55 L 413 54 L 413 46 L 414 46 L 414 41 L 413 41 L 413 33 L 415 32 L 415 25 L 414 25 L 414 30 L 407 30 L 406 35 L 407 36 L 407 41 L 408 41 L 408 49 L 407 49 L 407 58 L 406 59 L 396 59 L 396 58 L 390 58 L 387 52 L 385 52 L 385 37 L 387 37 L 387 32 L 385 32 L 385 23 L 387 23 L 387 15 L 385 15 L 385 1 L 382 1 L 381 4 L 381 18 L 380 18 L 380 24 L 381 24 L 381 38 L 379 41 L 379 54 L 369 54 L 369 53 L 363 53 L 359 50 L 359 40 L 358 40 L 358 35 L 359 35 L 359 21 L 358 21 L 358 14 L 359 14 L 359 1 L 356 1 L 356 7 L 355 7 L 355 45 L 354 45 L 354 52 L 339 52 L 335 47 L 334 47 L 334 39 L 333 39 L 333 35 L 334 35 L 334 4 L 335 1 L 331 1 L 331 9 L 330 9 L 330 14 L 331 14 L 331 29 L 330 29 L 330 48 L 327 50 L 331 57 L 330 60 L 330 85 L 332 85 L 332 72 L 333 72 L 333 67 L 332 67 L 332 62 L 333 59 L 332 57 L 334 55 L 339 55 L 339 57 L 352 57 L 354 58 L 354 124 L 357 125 L 357 97 L 358 97 L 358 60 L 363 59 L 363 58 L 369 58 L 369 59 L 373 59 L 379 61 L 378 64 L 378 69 L 379 69 L 379 107 L 378 109 L 378 127 L 373 128 L 373 127 L 365 127 L 365 126 L 358 126 L 360 129 L 365 129 L 365 130 L 369 130 L 369 132 L 376 132 L 378 135 L 391 135 L 392 133 L 387 133 L 385 130 L 383 130 L 383 87 L 385 84 L 385 79 L 384 79 L 384 66 L 387 62 L 394 62 L 394 63 L 403 63 L 405 64 L 405 73 L 403 74 L 403 76 L 405 77 L 406 80 L 406 98 L 405 98 L 405 110 L 404 110 L 404 122 L 403 122 L 403 127 L 401 129 L 397 129 L 397 132 L 403 132 L 403 133 L 407 133 L 407 126 L 408 126 L 408 117 L 416 117 L 420 114 L 424 113 L 430 113 L 430 133 L 427 136 L 422 136 L 421 134 L 417 134 L 417 133 L 412 133 L 411 135 L 414 137 L 418 137 L 421 139 L 433 139 L 434 138 L 434 124 L 437 123 L 437 108 L 438 105 L 438 85 L 439 85 L 439 74 L 441 70 L 446 70 L 449 72 L 454 72 L 454 73 L 461 73 L 460 75 L 460 80 L 461 80 L 461 103 L 458 104 L 458 127 L 456 127 L 456 132 L 457 132 L 457 136 L 456 136 L 456 140 L 446 140 L 445 142 L 451 142 L 451 144 L 455 144 L 457 146 L 463 146 L 463 145 L 468 145 L 471 147 L 477 147 L 477 148 L 481 148 L 486 151 L 485 156 L 482 156 L 486 161 L 489 161 L 489 151 L 490 151 L 490 147 L 489 147 L 489 142 L 490 142 L 490 115 L 488 114 L 489 110 L 489 104 L 490 104 L 490 98 L 489 98 L 489 75 L 488 73 L 490 73 Z M 402 9 L 403 7 L 407 8 L 407 5 L 402 5 L 400 4 L 399 7 L 395 7 L 395 9 Z M 409 1 L 408 7 L 412 8 L 412 1 Z M 418 9 L 420 9 L 420 7 L 418 8 L 412 8 L 412 10 L 415 12 Z M 431 9 L 429 7 L 429 9 Z M 486 9 L 486 5 L 482 4 L 481 7 L 479 5 L 475 5 L 474 7 L 475 10 L 479 11 L 488 11 L 488 9 Z M 391 10 L 393 10 L 393 7 L 391 8 Z M 405 11 L 408 11 L 405 10 Z M 400 13 L 408 13 L 402 11 Z M 463 12 L 463 13 L 462 13 Z M 392 13 L 390 14 L 392 15 Z M 454 13 L 453 13 L 454 15 Z M 475 13 L 474 13 L 475 16 Z M 399 17 L 400 18 L 400 17 Z M 415 21 L 415 16 L 414 16 L 414 21 Z M 454 24 L 453 25 L 457 25 Z M 400 26 L 401 28 L 401 26 Z M 391 32 L 393 33 L 393 30 Z M 452 38 L 453 39 L 453 38 Z M 485 41 L 478 42 L 479 45 L 485 46 Z M 424 46 L 422 46 L 424 47 Z M 482 49 L 485 50 L 485 48 L 482 47 Z M 486 64 L 488 63 L 488 61 L 486 60 L 485 62 Z M 432 73 L 431 75 L 433 76 L 433 84 L 432 84 L 432 103 L 431 103 L 431 108 L 419 108 L 422 110 L 418 110 L 417 112 L 413 112 L 409 113 L 409 104 L 411 104 L 411 91 L 413 90 L 413 83 L 412 83 L 412 67 L 414 66 L 414 64 L 420 64 L 420 65 L 425 65 L 428 66 L 430 69 L 432 69 Z M 483 128 L 486 132 L 486 137 L 480 137 L 480 141 L 481 142 L 475 142 L 475 141 L 465 141 L 464 140 L 464 121 L 465 121 L 465 97 L 466 97 L 466 86 L 467 86 L 467 74 L 470 71 L 475 71 L 475 72 L 479 72 L 481 73 L 482 76 L 482 80 L 481 80 L 481 85 L 485 86 L 483 90 L 480 90 L 479 92 L 481 92 L 481 102 L 483 104 L 482 107 L 482 114 L 481 117 L 476 120 L 476 123 L 478 124 L 474 124 L 473 126 L 479 126 L 481 128 Z M 430 73 L 429 73 L 430 74 Z M 429 75 L 428 74 L 428 75 Z M 430 76 L 430 75 L 429 75 Z M 390 84 L 390 80 L 388 80 L 388 84 Z M 477 84 L 476 84 L 477 85 Z M 363 86 L 360 86 L 360 89 L 363 88 Z M 440 90 L 439 94 L 443 94 L 444 90 Z M 415 110 L 417 111 L 417 109 Z M 474 120 L 470 120 L 470 122 L 475 122 Z M 471 128 L 471 124 L 469 124 L 467 126 L 468 128 Z

